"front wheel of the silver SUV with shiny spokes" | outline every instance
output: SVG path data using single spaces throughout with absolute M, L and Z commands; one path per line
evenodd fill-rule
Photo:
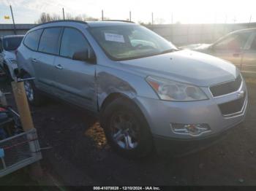
M 117 98 L 103 109 L 101 125 L 110 146 L 124 157 L 146 157 L 153 149 L 145 117 L 138 106 L 126 98 Z

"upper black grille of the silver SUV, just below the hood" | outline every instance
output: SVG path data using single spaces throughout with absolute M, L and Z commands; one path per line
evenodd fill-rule
M 214 95 L 214 97 L 219 95 L 225 95 L 227 93 L 233 93 L 239 89 L 239 87 L 241 86 L 241 82 L 242 82 L 241 75 L 239 75 L 232 82 L 226 82 L 223 84 L 211 86 L 210 90 L 212 95 Z

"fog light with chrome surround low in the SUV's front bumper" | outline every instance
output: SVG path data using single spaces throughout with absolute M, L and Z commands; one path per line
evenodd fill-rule
M 207 124 L 170 124 L 173 133 L 200 136 L 202 133 L 210 132 L 211 128 Z

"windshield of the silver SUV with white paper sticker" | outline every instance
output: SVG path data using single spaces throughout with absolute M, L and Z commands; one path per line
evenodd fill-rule
M 115 61 L 177 50 L 171 42 L 142 26 L 104 26 L 89 28 L 89 31 L 108 57 Z

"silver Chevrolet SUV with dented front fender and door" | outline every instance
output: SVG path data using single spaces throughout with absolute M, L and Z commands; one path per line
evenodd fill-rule
M 45 23 L 28 31 L 17 59 L 35 77 L 25 82 L 31 104 L 47 93 L 99 114 L 109 144 L 127 157 L 205 147 L 246 113 L 236 66 L 178 50 L 135 23 Z

